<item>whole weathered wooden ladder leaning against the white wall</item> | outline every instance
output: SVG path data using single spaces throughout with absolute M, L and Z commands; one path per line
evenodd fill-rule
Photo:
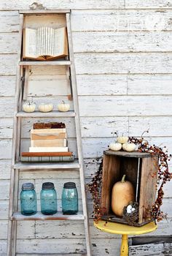
M 66 26 L 68 31 L 68 41 L 69 41 L 69 60 L 64 61 L 23 61 L 21 58 L 22 53 L 22 40 L 23 40 L 23 24 L 25 15 L 47 15 L 47 14 L 60 14 L 66 15 Z M 20 11 L 20 29 L 19 29 L 19 45 L 18 45 L 18 56 L 17 56 L 17 75 L 16 75 L 16 92 L 15 92 L 15 113 L 14 113 L 14 128 L 13 128 L 13 139 L 12 139 L 12 169 L 11 169 L 11 180 L 10 180 L 10 190 L 9 190 L 9 227 L 8 227 L 8 241 L 7 241 L 7 256 L 20 255 L 16 252 L 16 241 L 17 241 L 17 221 L 25 220 L 58 220 L 58 219 L 74 219 L 83 220 L 85 225 L 85 241 L 86 241 L 86 252 L 85 255 L 91 255 L 90 249 L 90 231 L 89 231 L 89 219 L 87 214 L 87 198 L 85 192 L 85 175 L 83 167 L 83 156 L 82 156 L 82 139 L 80 131 L 80 121 L 79 121 L 79 106 L 78 106 L 78 96 L 77 96 L 77 83 L 76 83 L 76 72 L 74 67 L 74 53 L 72 46 L 71 37 L 71 11 L 70 10 L 26 10 Z M 71 89 L 72 97 L 74 102 L 74 111 L 69 111 L 66 113 L 60 113 L 58 111 L 52 111 L 50 113 L 26 113 L 21 110 L 22 100 L 23 100 L 23 69 L 32 65 L 66 65 L 70 70 L 71 78 Z M 60 118 L 60 117 L 73 117 L 75 119 L 76 135 L 77 135 L 77 153 L 78 159 L 74 162 L 57 162 L 57 163 L 31 163 L 31 162 L 20 162 L 20 132 L 21 132 L 21 120 L 22 118 Z M 23 216 L 17 211 L 18 204 L 18 181 L 20 170 L 46 170 L 54 169 L 58 170 L 79 170 L 80 187 L 82 194 L 82 212 L 76 215 L 63 215 L 62 212 L 58 212 L 52 216 L 45 216 L 38 212 L 32 216 Z M 47 254 L 27 254 L 22 255 L 51 255 Z M 52 255 L 59 255 L 52 254 Z M 60 254 L 62 255 L 62 254 Z M 80 253 L 81 255 L 81 253 Z

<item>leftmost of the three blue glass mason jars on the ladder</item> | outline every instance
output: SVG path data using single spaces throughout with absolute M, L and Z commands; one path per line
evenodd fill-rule
M 20 192 L 21 214 L 33 215 L 37 212 L 36 192 L 33 183 L 24 183 Z

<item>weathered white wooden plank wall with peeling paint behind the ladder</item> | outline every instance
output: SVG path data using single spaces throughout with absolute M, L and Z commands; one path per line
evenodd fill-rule
M 112 140 L 111 132 L 139 136 L 149 128 L 152 143 L 172 152 L 172 1 L 171 0 L 33 0 L 0 1 L 0 255 L 6 255 L 12 115 L 19 17 L 30 7 L 71 8 L 74 57 L 77 69 L 85 176 L 97 170 L 94 161 Z M 37 94 L 38 91 L 37 91 Z M 38 95 L 39 96 L 39 95 Z M 47 119 L 48 120 L 48 119 Z M 34 120 L 36 121 L 36 120 Z M 23 145 L 31 123 L 23 121 Z M 74 124 L 69 120 L 72 148 Z M 4 150 L 5 148 L 5 150 Z M 64 176 L 65 175 L 65 176 Z M 69 172 L 21 173 L 39 192 L 44 179 L 59 187 Z M 58 179 L 55 179 L 57 177 Z M 78 184 L 78 173 L 72 178 Z M 168 236 L 172 230 L 171 184 L 165 187 L 168 220 L 149 236 Z M 58 195 L 60 199 L 60 195 Z M 60 200 L 59 200 L 60 205 Z M 91 213 L 90 195 L 88 205 Z M 91 214 L 90 214 L 91 215 Z M 90 219 L 93 255 L 119 255 L 119 236 L 95 230 Z M 82 252 L 82 222 L 19 222 L 18 252 Z

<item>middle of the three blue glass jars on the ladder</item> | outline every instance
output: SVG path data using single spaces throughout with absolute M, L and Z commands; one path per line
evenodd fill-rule
M 57 212 L 57 193 L 52 182 L 42 184 L 41 212 L 45 215 L 56 214 Z

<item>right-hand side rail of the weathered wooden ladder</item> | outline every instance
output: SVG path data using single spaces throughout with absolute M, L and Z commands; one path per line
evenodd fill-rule
M 78 105 L 78 97 L 77 97 L 77 80 L 76 80 L 76 72 L 74 67 L 74 53 L 73 53 L 73 45 L 72 45 L 72 35 L 71 35 L 71 18 L 70 14 L 66 13 L 66 24 L 68 31 L 68 39 L 69 39 L 69 57 L 71 61 L 71 83 L 72 83 L 72 91 L 73 91 L 73 101 L 74 101 L 74 111 L 76 113 L 75 116 L 75 125 L 76 125 L 76 133 L 77 133 L 77 152 L 79 158 L 79 175 L 80 175 L 80 184 L 81 184 L 81 192 L 82 192 L 82 208 L 85 215 L 85 240 L 87 247 L 87 256 L 91 255 L 91 242 L 90 242 L 90 227 L 89 227 L 89 219 L 87 212 L 87 197 L 85 191 L 85 175 L 84 175 L 84 159 L 82 155 L 82 136 L 80 129 L 80 120 L 79 120 L 79 105 Z

